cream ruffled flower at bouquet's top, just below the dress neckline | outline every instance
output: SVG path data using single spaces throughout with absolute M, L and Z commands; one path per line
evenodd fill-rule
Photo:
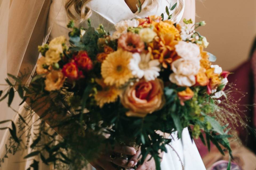
M 115 29 L 117 31 L 113 33 L 113 36 L 111 38 L 118 39 L 121 36 L 121 34 L 127 33 L 127 29 L 129 27 L 138 27 L 138 26 L 139 26 L 139 21 L 136 19 L 120 21 L 119 23 L 115 24 Z

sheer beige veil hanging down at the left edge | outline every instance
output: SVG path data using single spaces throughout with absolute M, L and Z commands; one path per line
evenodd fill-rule
M 0 0 L 0 90 L 8 90 L 7 73 L 30 82 L 39 57 L 37 46 L 46 42 L 50 27 L 46 20 L 51 0 Z M 7 102 L 8 99 L 5 99 Z M 21 100 L 15 94 L 11 107 L 18 110 Z M 6 102 L 0 103 L 0 121 L 12 119 L 15 112 Z M 6 126 L 0 124 L 0 128 Z M 0 141 L 4 131 L 0 131 Z

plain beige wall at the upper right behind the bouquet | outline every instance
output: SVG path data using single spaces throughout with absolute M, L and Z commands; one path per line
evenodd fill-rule
M 206 22 L 198 31 L 216 64 L 231 70 L 247 60 L 256 36 L 256 0 L 196 0 L 196 12 L 196 20 Z

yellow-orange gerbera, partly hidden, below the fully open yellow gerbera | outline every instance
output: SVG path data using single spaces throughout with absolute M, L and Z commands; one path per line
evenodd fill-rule
M 98 91 L 94 98 L 101 108 L 105 103 L 115 102 L 118 95 L 121 94 L 121 90 L 115 86 L 107 86 L 103 79 L 96 79 L 96 82 L 102 87 L 102 91 Z

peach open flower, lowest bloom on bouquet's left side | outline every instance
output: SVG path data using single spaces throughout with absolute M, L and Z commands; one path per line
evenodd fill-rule
M 59 90 L 65 81 L 65 77 L 61 71 L 53 70 L 47 74 L 45 79 L 45 90 Z

